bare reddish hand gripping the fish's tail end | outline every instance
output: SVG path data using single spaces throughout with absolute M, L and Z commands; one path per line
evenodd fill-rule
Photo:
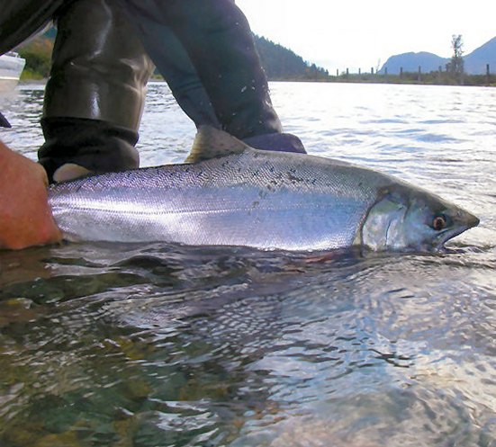
M 0 248 L 21 249 L 57 242 L 48 179 L 38 163 L 0 142 Z

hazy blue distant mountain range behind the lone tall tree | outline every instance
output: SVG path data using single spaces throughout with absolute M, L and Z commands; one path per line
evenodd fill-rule
M 441 58 L 435 54 L 425 51 L 419 53 L 403 53 L 388 58 L 379 74 L 384 73 L 387 67 L 389 75 L 400 74 L 400 68 L 404 72 L 417 72 L 421 67 L 422 73 L 437 71 L 442 67 L 446 70 L 446 64 L 450 58 Z M 472 53 L 464 56 L 464 70 L 469 75 L 485 75 L 486 65 L 490 65 L 492 73 L 496 72 L 496 37 L 484 43 L 482 47 L 474 49 Z

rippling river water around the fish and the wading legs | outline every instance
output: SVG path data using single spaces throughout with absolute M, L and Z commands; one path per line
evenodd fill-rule
M 64 244 L 0 252 L 0 445 L 496 446 L 496 89 L 271 84 L 311 154 L 481 219 L 445 255 Z M 4 99 L 35 158 L 42 85 Z M 142 165 L 194 126 L 149 86 Z

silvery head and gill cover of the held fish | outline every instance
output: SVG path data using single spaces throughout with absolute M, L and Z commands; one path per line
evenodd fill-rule
M 411 187 L 379 197 L 361 228 L 362 245 L 373 250 L 440 253 L 446 241 L 479 224 L 470 212 Z

